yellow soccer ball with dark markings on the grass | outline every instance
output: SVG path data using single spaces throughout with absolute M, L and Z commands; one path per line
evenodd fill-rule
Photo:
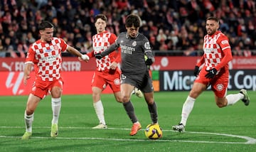
M 159 124 L 149 124 L 146 126 L 145 135 L 148 139 L 160 139 L 163 136 L 163 131 Z

